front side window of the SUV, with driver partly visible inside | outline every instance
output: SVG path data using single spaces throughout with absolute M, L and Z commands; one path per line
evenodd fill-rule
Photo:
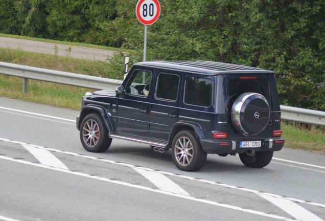
M 149 95 L 152 73 L 148 71 L 134 71 L 126 84 L 126 93 L 132 95 Z

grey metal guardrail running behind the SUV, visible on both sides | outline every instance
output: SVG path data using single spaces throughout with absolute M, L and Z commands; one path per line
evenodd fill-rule
M 24 92 L 27 93 L 27 79 L 66 84 L 89 89 L 115 89 L 123 81 L 100 78 L 69 72 L 34 68 L 25 65 L 0 62 L 0 74 L 24 78 Z M 281 119 L 305 124 L 325 126 L 325 112 L 281 105 Z

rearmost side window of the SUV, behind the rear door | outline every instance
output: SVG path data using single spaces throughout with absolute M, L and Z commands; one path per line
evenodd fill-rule
M 184 102 L 197 106 L 211 105 L 212 81 L 210 79 L 188 77 L 185 83 Z

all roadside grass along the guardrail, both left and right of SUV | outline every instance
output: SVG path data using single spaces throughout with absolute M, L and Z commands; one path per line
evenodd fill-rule
M 0 36 L 4 35 L 0 34 Z M 26 37 L 24 38 L 26 39 Z M 121 76 L 107 74 L 111 70 L 106 62 L 65 58 L 20 50 L 0 48 L 0 61 L 115 79 L 121 79 L 123 75 L 123 73 Z M 22 92 L 22 82 L 22 78 L 0 74 L 0 96 L 79 110 L 81 97 L 85 92 L 94 92 L 92 89 L 29 80 L 28 94 L 25 95 Z M 324 127 L 283 121 L 282 130 L 283 137 L 286 139 L 286 147 L 325 154 Z

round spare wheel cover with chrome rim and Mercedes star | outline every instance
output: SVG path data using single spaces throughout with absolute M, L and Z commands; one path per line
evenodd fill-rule
M 270 106 L 263 95 L 244 93 L 231 107 L 231 122 L 238 132 L 245 135 L 258 135 L 270 119 Z

